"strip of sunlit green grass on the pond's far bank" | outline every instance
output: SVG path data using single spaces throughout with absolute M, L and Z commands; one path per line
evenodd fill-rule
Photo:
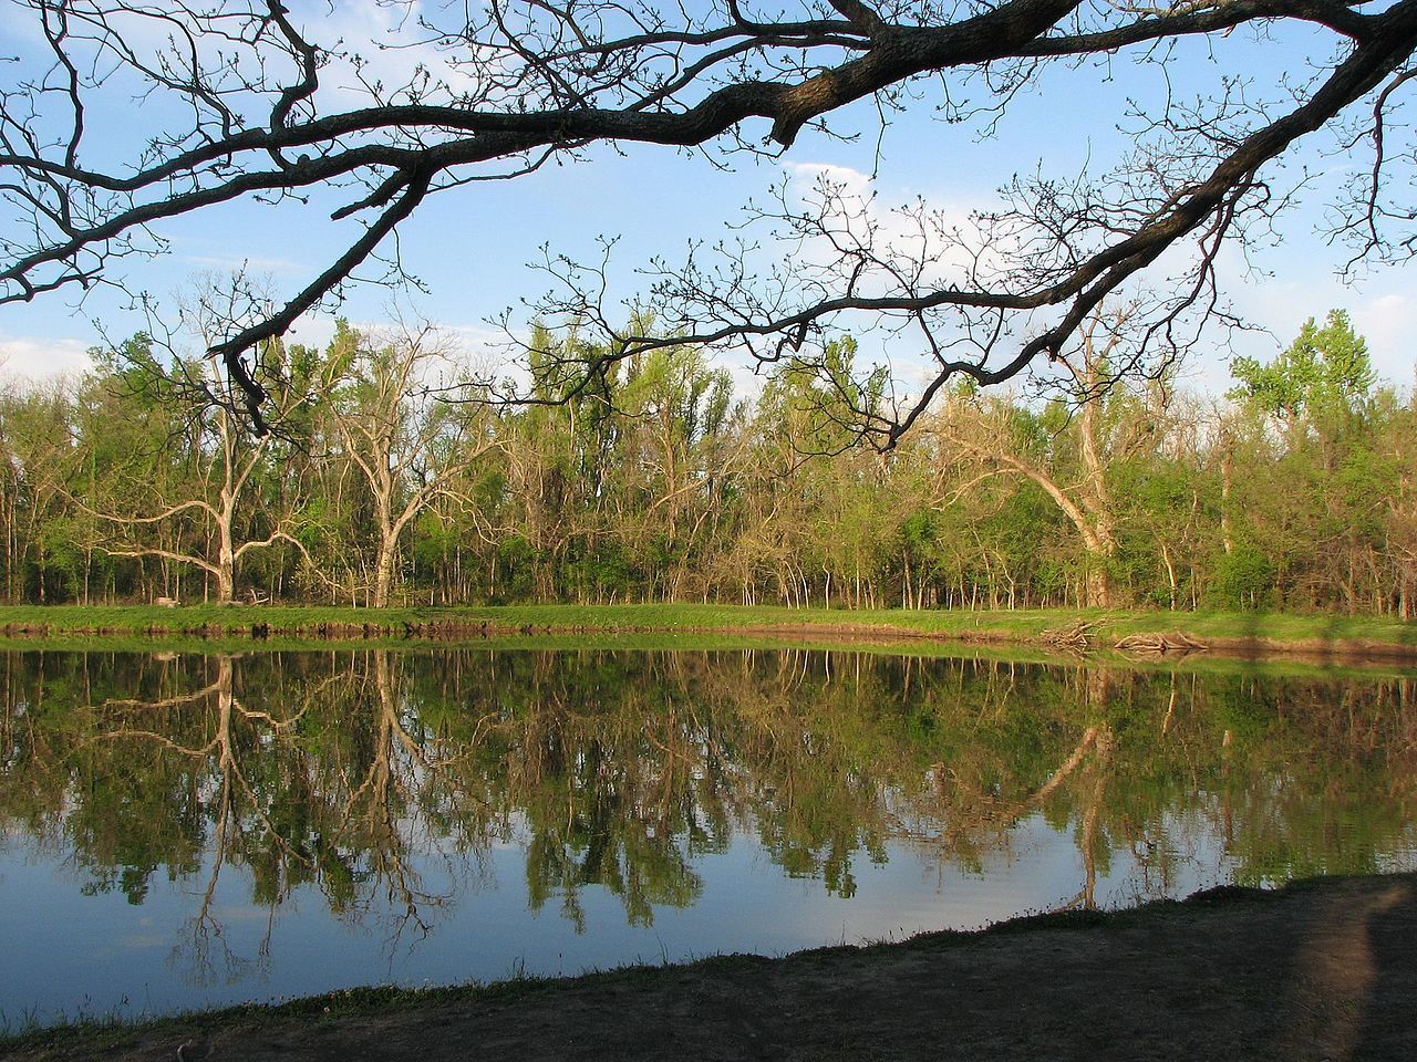
M 72 636 L 142 639 L 465 640 L 526 634 L 791 634 L 1049 644 L 1081 632 L 1110 649 L 1134 634 L 1179 633 L 1227 654 L 1294 653 L 1417 660 L 1417 623 L 1348 616 L 1155 610 L 907 612 L 726 605 L 516 605 L 354 609 L 327 606 L 0 606 L 10 641 Z

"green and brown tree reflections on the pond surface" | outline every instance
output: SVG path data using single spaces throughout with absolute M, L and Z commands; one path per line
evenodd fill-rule
M 693 905 L 697 864 L 748 835 L 842 898 L 890 845 L 988 874 L 1019 826 L 1071 835 L 1077 893 L 1367 872 L 1411 852 L 1413 680 L 1124 670 L 862 651 L 10 653 L 0 816 L 85 889 L 142 903 L 198 879 L 174 953 L 193 981 L 268 960 L 296 891 L 388 947 L 434 930 L 524 852 L 527 903 L 585 926 Z M 214 898 L 249 874 L 256 954 Z M 1105 898 L 1117 902 L 1117 895 Z

